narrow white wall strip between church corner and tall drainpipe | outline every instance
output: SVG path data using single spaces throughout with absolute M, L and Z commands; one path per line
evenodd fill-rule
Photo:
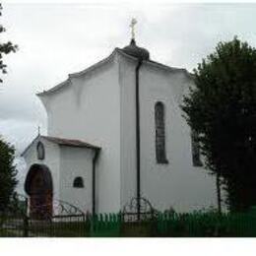
M 119 55 L 119 84 L 121 96 L 121 208 L 136 197 L 136 59 Z

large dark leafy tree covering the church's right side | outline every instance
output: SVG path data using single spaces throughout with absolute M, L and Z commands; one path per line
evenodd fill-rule
M 222 177 L 231 211 L 256 205 L 256 50 L 236 36 L 194 69 L 185 118 L 206 166 Z

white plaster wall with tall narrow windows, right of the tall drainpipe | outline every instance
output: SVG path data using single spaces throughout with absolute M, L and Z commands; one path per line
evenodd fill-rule
M 142 195 L 159 210 L 173 207 L 178 212 L 187 212 L 217 203 L 215 178 L 192 165 L 190 128 L 182 117 L 176 90 L 189 82 L 183 71 L 160 71 L 150 64 L 141 68 Z M 155 103 L 159 100 L 165 109 L 168 164 L 156 161 Z

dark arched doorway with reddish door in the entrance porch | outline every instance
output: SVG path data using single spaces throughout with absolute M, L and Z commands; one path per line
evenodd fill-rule
M 53 184 L 49 168 L 32 164 L 25 181 L 25 191 L 30 196 L 30 216 L 46 219 L 52 216 Z

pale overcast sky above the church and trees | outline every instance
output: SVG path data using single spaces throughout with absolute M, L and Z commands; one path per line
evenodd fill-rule
M 0 85 L 0 134 L 17 156 L 46 134 L 46 113 L 35 96 L 129 43 L 138 20 L 137 43 L 151 58 L 192 71 L 220 40 L 236 34 L 256 46 L 256 4 L 3 4 L 3 39 L 20 50 L 5 58 Z M 20 168 L 24 167 L 19 160 Z

